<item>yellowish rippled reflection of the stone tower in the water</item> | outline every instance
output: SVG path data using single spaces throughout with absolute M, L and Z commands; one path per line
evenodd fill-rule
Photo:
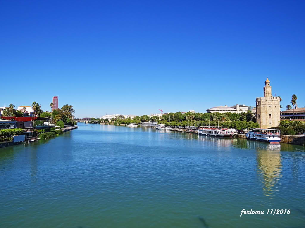
M 272 198 L 282 178 L 281 145 L 257 143 L 257 171 L 263 184 L 264 195 Z

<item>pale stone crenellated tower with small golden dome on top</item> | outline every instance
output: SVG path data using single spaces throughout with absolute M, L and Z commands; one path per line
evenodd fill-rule
M 256 121 L 260 128 L 278 126 L 280 121 L 280 98 L 273 97 L 270 81 L 265 81 L 264 97 L 256 98 Z

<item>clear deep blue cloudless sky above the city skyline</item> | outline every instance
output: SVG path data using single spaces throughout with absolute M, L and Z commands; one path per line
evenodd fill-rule
M 0 106 L 76 117 L 305 106 L 304 1 L 2 1 Z

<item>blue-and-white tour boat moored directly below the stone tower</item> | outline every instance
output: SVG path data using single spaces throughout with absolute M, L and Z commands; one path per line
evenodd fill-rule
M 246 133 L 246 138 L 249 140 L 267 142 L 267 143 L 279 143 L 281 142 L 280 130 L 277 129 L 264 129 L 255 128 Z

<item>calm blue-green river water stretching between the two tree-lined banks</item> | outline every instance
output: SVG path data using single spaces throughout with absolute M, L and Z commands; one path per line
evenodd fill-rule
M 0 197 L 0 227 L 305 227 L 305 151 L 79 123 L 0 149 Z

